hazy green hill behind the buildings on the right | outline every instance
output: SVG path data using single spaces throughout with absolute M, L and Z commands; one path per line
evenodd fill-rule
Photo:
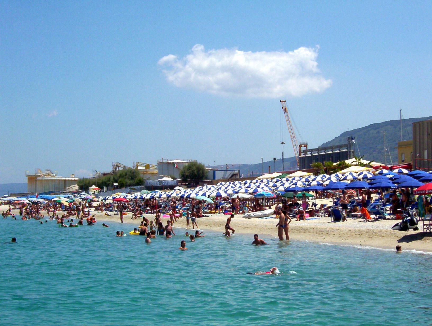
M 413 138 L 413 122 L 428 119 L 432 119 L 432 117 L 402 120 L 403 140 L 409 140 Z M 321 146 L 343 144 L 346 143 L 348 136 L 353 136 L 356 142 L 353 144 L 355 155 L 359 156 L 360 152 L 360 156 L 364 155 L 364 159 L 368 161 L 384 162 L 384 131 L 388 148 L 390 149 L 391 159 L 394 164 L 397 164 L 396 146 L 397 142 L 400 141 L 400 120 L 389 120 L 380 123 L 372 123 L 362 128 L 345 131 L 334 139 L 324 142 L 321 144 Z M 388 161 L 389 158 L 387 157 L 387 163 Z

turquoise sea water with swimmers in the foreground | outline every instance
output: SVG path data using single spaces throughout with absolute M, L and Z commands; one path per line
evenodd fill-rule
M 0 220 L 1 325 L 430 325 L 432 256 Z M 17 238 L 16 244 L 3 244 Z M 179 250 L 185 240 L 187 251 Z M 281 275 L 248 275 L 277 266 Z

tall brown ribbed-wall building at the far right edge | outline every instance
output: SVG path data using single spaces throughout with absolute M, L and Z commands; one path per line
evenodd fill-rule
M 432 119 L 413 123 L 413 168 L 432 170 Z

